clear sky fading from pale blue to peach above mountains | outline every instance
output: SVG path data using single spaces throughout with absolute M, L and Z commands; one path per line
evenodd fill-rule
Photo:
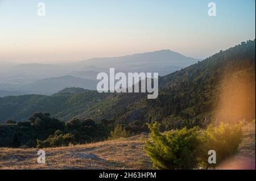
M 38 16 L 38 3 L 46 16 Z M 216 3 L 216 16 L 208 3 Z M 0 0 L 0 62 L 170 49 L 201 58 L 255 39 L 255 0 Z

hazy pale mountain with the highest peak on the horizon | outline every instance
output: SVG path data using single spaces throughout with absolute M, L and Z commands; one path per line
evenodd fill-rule
M 159 75 L 166 75 L 195 64 L 197 61 L 199 59 L 185 57 L 171 50 L 159 50 L 121 57 L 90 58 L 89 60 L 77 62 L 75 66 L 86 68 L 93 65 L 100 70 L 115 68 L 125 72 L 158 72 Z

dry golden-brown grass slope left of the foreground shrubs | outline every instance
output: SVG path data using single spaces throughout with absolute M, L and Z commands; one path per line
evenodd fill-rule
M 151 169 L 143 150 L 145 136 L 86 145 L 46 148 L 46 164 L 37 162 L 38 149 L 0 148 L 0 169 Z M 88 154 L 92 158 L 88 158 Z

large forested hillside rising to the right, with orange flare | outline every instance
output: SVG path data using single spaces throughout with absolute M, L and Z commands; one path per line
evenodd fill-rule
M 222 102 L 227 106 L 219 106 Z M 233 112 L 228 106 L 233 106 Z M 240 110 L 237 115 L 236 110 Z M 228 116 L 232 113 L 232 117 Z M 122 123 L 158 120 L 167 129 L 204 126 L 215 120 L 232 121 L 226 118 L 252 120 L 255 117 L 255 40 L 160 77 L 157 99 L 147 99 L 143 94 L 114 94 L 92 105 L 79 117 L 111 118 Z

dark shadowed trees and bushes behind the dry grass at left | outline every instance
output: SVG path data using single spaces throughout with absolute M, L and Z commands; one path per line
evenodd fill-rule
M 20 145 L 38 148 L 102 141 L 109 137 L 115 124 L 113 120 L 105 120 L 104 125 L 77 118 L 65 124 L 44 112 L 34 113 L 29 120 L 14 125 L 0 124 L 0 146 L 13 146 L 13 137 L 17 143 L 17 136 Z

